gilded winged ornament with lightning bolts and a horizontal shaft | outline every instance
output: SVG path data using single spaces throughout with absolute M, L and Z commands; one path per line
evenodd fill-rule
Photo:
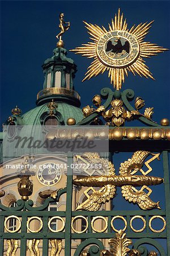
M 107 159 L 101 158 L 99 154 L 95 153 L 85 153 L 84 157 L 88 158 L 90 163 L 95 163 L 106 161 Z M 153 209 L 159 208 L 159 201 L 154 202 L 150 199 L 150 194 L 152 189 L 148 188 L 148 185 L 157 185 L 163 183 L 163 178 L 155 177 L 155 176 L 146 176 L 148 172 L 152 171 L 150 167 L 147 172 L 142 170 L 143 164 L 147 156 L 153 155 L 153 157 L 148 160 L 146 163 L 148 166 L 148 162 L 152 162 L 155 158 L 159 158 L 159 154 L 152 154 L 149 151 L 136 151 L 133 156 L 120 164 L 119 173 L 120 175 L 115 174 L 114 166 L 111 162 L 109 162 L 110 171 L 108 175 L 101 176 L 86 176 L 74 179 L 73 183 L 75 185 L 90 187 L 86 189 L 84 195 L 87 196 L 87 200 L 82 204 L 78 204 L 76 210 L 84 209 L 90 211 L 99 210 L 101 204 L 105 203 L 112 199 L 115 195 L 116 188 L 122 188 L 122 196 L 125 197 L 129 203 L 133 202 L 134 204 L 138 204 L 138 206 L 143 209 Z M 95 160 L 94 160 L 95 159 Z M 136 172 L 141 171 L 143 175 L 134 175 Z M 141 187 L 141 189 L 136 189 L 135 187 Z M 102 187 L 99 191 L 96 191 L 94 187 Z M 147 189 L 148 193 L 144 191 Z M 91 195 L 88 195 L 89 191 L 93 191 Z

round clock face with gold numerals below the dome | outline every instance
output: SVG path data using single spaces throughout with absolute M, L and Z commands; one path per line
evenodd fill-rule
M 55 185 L 61 179 L 61 168 L 59 164 L 44 163 L 37 172 L 37 179 L 42 185 Z

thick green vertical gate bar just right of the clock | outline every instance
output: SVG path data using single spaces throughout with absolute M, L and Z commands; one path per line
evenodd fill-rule
M 72 217 L 72 193 L 73 193 L 73 152 L 68 152 L 67 159 L 67 196 L 66 196 L 66 229 L 65 229 L 65 255 L 71 256 L 71 217 Z

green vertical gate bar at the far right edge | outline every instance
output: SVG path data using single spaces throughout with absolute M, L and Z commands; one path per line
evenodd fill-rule
M 170 189 L 169 189 L 169 164 L 168 151 L 163 151 L 163 167 L 164 167 L 164 188 L 165 188 L 165 205 L 167 220 L 167 255 L 170 255 Z

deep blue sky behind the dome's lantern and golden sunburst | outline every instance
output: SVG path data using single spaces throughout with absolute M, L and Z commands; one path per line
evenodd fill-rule
M 63 36 L 69 50 L 90 40 L 82 20 L 108 28 L 118 7 L 129 28 L 155 19 L 146 41 L 170 47 L 169 1 L 1 1 L 1 124 L 15 105 L 23 113 L 35 107 L 36 94 L 44 81 L 41 65 L 56 46 L 59 12 L 71 22 Z M 94 94 L 103 87 L 112 87 L 107 72 L 82 83 L 91 60 L 68 54 L 78 65 L 74 85 L 82 96 L 82 107 L 91 105 Z M 145 60 L 156 81 L 130 73 L 123 89 L 133 89 L 146 106 L 154 106 L 153 119 L 160 122 L 163 117 L 169 118 L 169 52 Z

